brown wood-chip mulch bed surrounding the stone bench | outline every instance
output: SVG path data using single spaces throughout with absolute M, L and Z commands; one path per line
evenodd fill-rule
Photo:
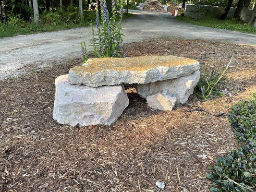
M 211 113 L 256 91 L 256 47 L 173 38 L 126 45 L 126 56 L 176 55 L 204 72 L 225 66 L 227 96 L 195 105 Z M 208 192 L 208 164 L 236 147 L 226 116 L 153 111 L 127 86 L 129 106 L 111 126 L 71 127 L 52 120 L 57 76 L 81 60 L 0 82 L 0 192 Z M 163 190 L 157 181 L 166 183 Z

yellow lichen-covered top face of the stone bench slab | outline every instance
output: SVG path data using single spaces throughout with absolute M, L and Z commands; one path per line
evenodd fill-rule
M 133 58 L 97 58 L 90 59 L 85 66 L 76 66 L 71 70 L 76 73 L 88 72 L 91 74 L 104 70 L 116 71 L 146 71 L 159 66 L 174 67 L 178 65 L 190 65 L 196 60 L 175 56 L 143 56 Z

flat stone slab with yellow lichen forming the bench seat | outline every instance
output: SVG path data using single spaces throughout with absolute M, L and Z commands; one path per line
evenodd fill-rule
M 187 76 L 199 68 L 197 60 L 175 56 L 89 59 L 70 69 L 68 80 L 91 87 L 148 84 Z

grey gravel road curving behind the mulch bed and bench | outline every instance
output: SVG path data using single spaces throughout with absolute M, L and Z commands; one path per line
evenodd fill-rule
M 234 44 L 256 45 L 256 35 L 213 29 L 176 21 L 170 14 L 133 11 L 123 23 L 125 43 L 145 38 L 173 36 Z M 90 44 L 89 27 L 0 39 L 0 80 L 29 69 L 79 57 L 81 41 Z

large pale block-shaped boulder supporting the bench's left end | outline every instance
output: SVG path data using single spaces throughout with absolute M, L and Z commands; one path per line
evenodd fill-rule
M 53 119 L 61 124 L 110 125 L 129 104 L 123 85 L 94 88 L 69 84 L 67 78 L 61 75 L 55 80 Z

